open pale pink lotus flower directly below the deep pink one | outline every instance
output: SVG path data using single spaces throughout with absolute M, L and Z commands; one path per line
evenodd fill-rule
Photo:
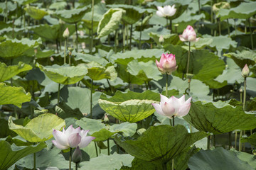
M 156 113 L 160 115 L 164 115 L 167 118 L 174 116 L 183 117 L 188 114 L 189 109 L 191 108 L 191 98 L 188 98 L 185 101 L 185 95 L 181 96 L 181 98 L 176 98 L 171 96 L 171 98 L 167 98 L 160 94 L 161 101 L 160 104 L 152 103 L 154 108 L 156 109 Z

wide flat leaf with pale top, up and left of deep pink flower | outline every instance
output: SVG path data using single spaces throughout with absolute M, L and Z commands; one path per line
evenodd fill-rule
M 117 52 L 117 54 L 110 57 L 110 60 L 126 66 L 134 59 L 137 59 L 138 62 L 148 62 L 149 60 L 155 61 L 156 58 L 161 57 L 163 53 L 164 50 L 162 49 L 132 50 L 124 53 Z

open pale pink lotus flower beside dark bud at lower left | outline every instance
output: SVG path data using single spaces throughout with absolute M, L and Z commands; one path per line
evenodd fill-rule
M 73 128 L 70 125 L 67 130 L 63 128 L 63 131 L 53 130 L 53 144 L 59 149 L 68 149 L 73 147 L 87 147 L 89 143 L 95 139 L 95 137 L 87 136 L 89 130 L 80 130 L 80 127 Z

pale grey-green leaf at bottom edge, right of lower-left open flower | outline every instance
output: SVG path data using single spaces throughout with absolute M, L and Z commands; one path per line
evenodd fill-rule
M 81 169 L 121 169 L 122 166 L 130 166 L 132 157 L 129 154 L 111 154 L 110 156 L 101 154 L 99 157 L 90 159 L 90 162 L 80 163 Z

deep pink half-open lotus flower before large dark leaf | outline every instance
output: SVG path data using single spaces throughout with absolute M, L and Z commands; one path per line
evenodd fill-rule
M 160 58 L 160 62 L 156 60 L 156 66 L 161 72 L 161 74 L 171 74 L 174 72 L 178 66 L 176 66 L 175 55 L 163 53 Z

